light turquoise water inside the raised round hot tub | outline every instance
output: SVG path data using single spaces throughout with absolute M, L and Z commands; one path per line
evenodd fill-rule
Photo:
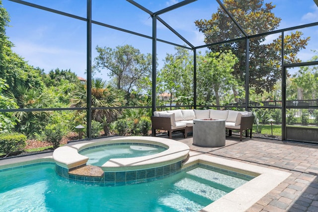
M 141 157 L 151 154 L 157 154 L 166 150 L 158 145 L 147 144 L 117 144 L 104 145 L 96 148 L 83 149 L 79 153 L 87 156 L 87 164 L 102 166 L 111 158 Z

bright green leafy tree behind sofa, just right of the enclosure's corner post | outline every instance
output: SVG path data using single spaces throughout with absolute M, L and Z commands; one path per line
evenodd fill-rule
M 220 105 L 220 98 L 232 87 L 237 86 L 232 72 L 238 59 L 231 51 L 227 52 L 206 52 L 198 56 L 198 79 L 197 90 L 198 100 L 210 103 L 213 96 L 216 105 Z

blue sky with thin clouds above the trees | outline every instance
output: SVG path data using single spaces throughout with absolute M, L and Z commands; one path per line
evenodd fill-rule
M 86 16 L 86 0 L 28 0 L 42 6 Z M 139 4 L 155 12 L 181 0 L 136 0 Z M 264 2 L 270 2 L 264 0 Z M 279 29 L 298 26 L 318 21 L 318 7 L 314 0 L 272 0 L 276 8 L 273 12 L 281 17 Z M 86 23 L 9 0 L 2 0 L 3 7 L 10 14 L 10 27 L 6 34 L 14 43 L 13 51 L 25 58 L 30 65 L 40 67 L 46 72 L 52 69 L 71 69 L 79 76 L 86 78 Z M 172 26 L 178 33 L 194 46 L 204 45 L 203 34 L 194 21 L 210 19 L 217 11 L 216 0 L 197 0 L 186 6 L 164 13 L 159 17 Z M 126 0 L 92 0 L 92 19 L 127 30 L 152 35 L 152 19 L 139 8 Z M 301 30 L 304 37 L 311 36 L 306 50 L 299 57 L 307 61 L 318 50 L 318 27 Z M 276 35 L 268 37 L 275 39 Z M 158 23 L 158 38 L 183 45 L 184 42 Z M 92 26 L 92 62 L 97 56 L 96 45 L 115 48 L 121 45 L 132 45 L 141 53 L 152 53 L 152 41 L 128 33 L 119 32 L 101 26 Z M 159 68 L 166 53 L 174 53 L 174 47 L 158 43 Z M 108 80 L 106 72 L 95 76 Z

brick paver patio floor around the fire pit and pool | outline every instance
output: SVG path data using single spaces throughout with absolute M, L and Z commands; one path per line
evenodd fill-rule
M 292 173 L 247 212 L 318 212 L 318 145 L 227 136 L 225 146 L 212 148 L 193 145 L 192 136 L 172 139 L 192 151 Z

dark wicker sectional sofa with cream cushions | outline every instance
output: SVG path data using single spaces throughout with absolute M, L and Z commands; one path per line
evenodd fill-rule
M 251 112 L 213 109 L 155 111 L 154 116 L 151 117 L 153 136 L 156 136 L 156 130 L 165 130 L 170 139 L 173 131 L 181 131 L 184 133 L 184 138 L 187 138 L 187 133 L 192 132 L 193 129 L 193 119 L 207 118 L 226 120 L 225 127 L 229 130 L 229 135 L 232 136 L 233 130 L 239 131 L 240 141 L 242 141 L 243 131 L 247 137 L 249 130 L 249 138 L 252 138 L 254 116 Z

